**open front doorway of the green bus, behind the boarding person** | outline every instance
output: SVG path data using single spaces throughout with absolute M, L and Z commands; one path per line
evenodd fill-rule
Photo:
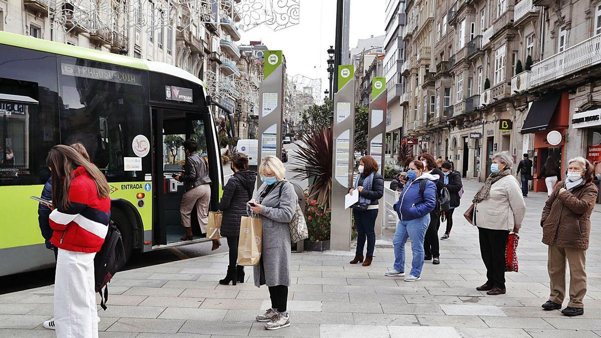
M 195 140 L 198 153 L 207 156 L 206 116 L 190 111 L 153 108 L 154 148 L 154 225 L 153 246 L 177 245 L 185 230 L 182 226 L 180 203 L 184 194 L 183 183 L 175 176 L 182 173 L 186 162 L 183 143 Z M 198 226 L 196 208 L 192 210 L 194 241 L 201 241 L 204 234 Z

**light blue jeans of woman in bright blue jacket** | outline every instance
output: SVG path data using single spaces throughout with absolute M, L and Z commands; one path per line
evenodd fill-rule
M 394 269 L 405 271 L 405 244 L 411 238 L 411 251 L 413 260 L 411 262 L 410 274 L 419 277 L 424 267 L 424 236 L 430 226 L 430 214 L 415 218 L 410 221 L 398 221 L 397 230 L 394 232 L 392 244 L 394 244 Z

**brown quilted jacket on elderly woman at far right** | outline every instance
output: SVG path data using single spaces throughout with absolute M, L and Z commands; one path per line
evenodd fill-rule
M 572 191 L 560 192 L 565 186 L 559 182 L 543 207 L 543 243 L 587 250 L 597 187 L 593 182 L 582 182 Z

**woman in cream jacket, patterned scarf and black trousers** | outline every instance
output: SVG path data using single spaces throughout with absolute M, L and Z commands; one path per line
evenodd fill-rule
M 509 232 L 519 232 L 526 203 L 517 179 L 511 175 L 507 152 L 493 155 L 490 176 L 474 196 L 473 224 L 478 227 L 480 253 L 486 265 L 486 283 L 478 286 L 487 295 L 505 293 L 505 247 Z

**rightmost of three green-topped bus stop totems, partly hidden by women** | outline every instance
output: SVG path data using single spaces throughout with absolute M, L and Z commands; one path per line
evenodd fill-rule
M 384 176 L 383 146 L 386 137 L 386 78 L 373 78 L 371 82 L 370 114 L 367 129 L 367 153 L 371 155 L 380 167 L 380 174 Z M 376 218 L 376 238 L 382 236 L 383 220 L 387 220 L 384 212 L 384 198 L 379 201 Z

